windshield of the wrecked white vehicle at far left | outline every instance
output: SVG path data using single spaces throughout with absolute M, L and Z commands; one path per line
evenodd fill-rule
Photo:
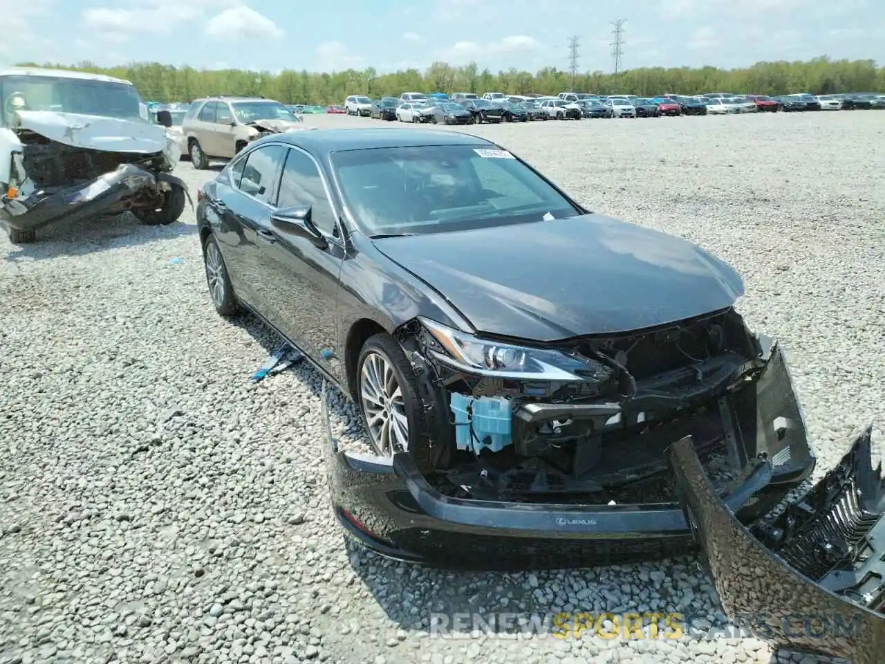
M 55 111 L 148 122 L 147 107 L 132 85 L 61 76 L 0 77 L 0 125 L 14 111 Z

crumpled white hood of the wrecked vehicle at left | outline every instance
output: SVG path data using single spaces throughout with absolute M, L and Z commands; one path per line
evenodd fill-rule
M 29 129 L 51 141 L 103 152 L 163 152 L 171 165 L 181 158 L 178 142 L 165 127 L 100 115 L 54 111 L 19 111 L 17 129 Z

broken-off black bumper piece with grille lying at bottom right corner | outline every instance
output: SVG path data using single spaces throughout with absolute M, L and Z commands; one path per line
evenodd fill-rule
M 883 660 L 885 490 L 871 434 L 804 498 L 749 528 L 716 495 L 690 442 L 673 445 L 681 504 L 730 620 L 777 647 Z

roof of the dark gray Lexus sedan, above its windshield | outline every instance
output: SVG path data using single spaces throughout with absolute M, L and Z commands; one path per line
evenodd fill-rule
M 316 154 L 373 148 L 416 148 L 437 145 L 496 147 L 484 138 L 435 129 L 314 129 L 273 136 Z

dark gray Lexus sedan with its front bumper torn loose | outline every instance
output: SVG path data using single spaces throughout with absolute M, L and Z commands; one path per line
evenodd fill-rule
M 219 313 L 256 313 L 358 405 L 374 452 L 329 433 L 332 503 L 386 556 L 681 552 L 704 516 L 691 463 L 741 528 L 812 473 L 787 362 L 735 311 L 735 270 L 590 212 L 495 143 L 268 136 L 200 192 L 197 219 Z

